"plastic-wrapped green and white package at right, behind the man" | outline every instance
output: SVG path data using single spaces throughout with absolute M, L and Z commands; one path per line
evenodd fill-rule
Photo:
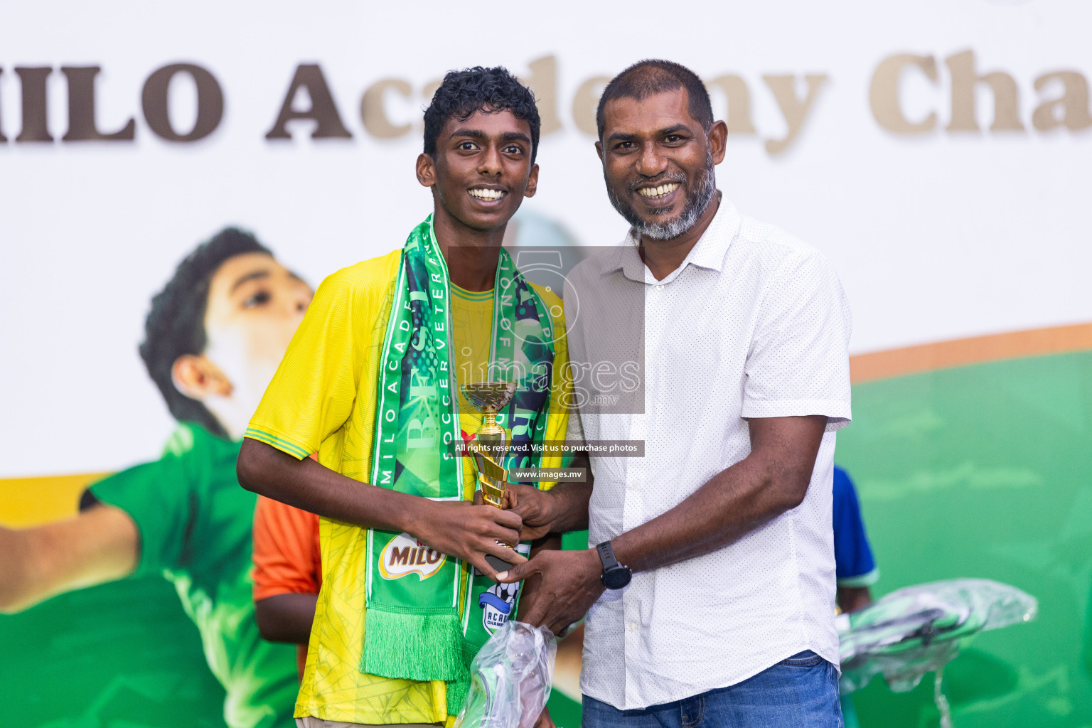
M 912 690 L 935 671 L 934 700 L 950 726 L 943 668 L 978 632 L 1035 619 L 1035 597 L 986 578 L 951 578 L 898 589 L 838 619 L 843 694 L 882 675 L 891 690 Z

